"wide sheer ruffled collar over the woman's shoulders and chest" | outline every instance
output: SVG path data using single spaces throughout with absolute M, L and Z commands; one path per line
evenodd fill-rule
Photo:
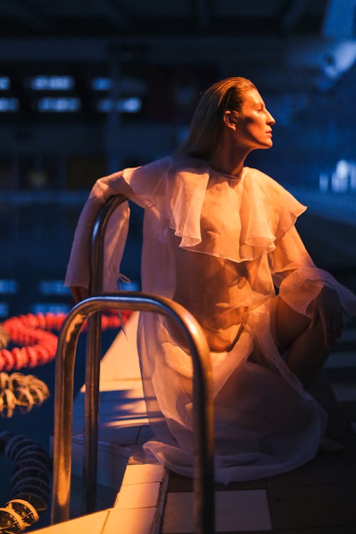
M 241 178 L 218 172 L 201 159 L 172 157 L 166 172 L 167 216 L 179 246 L 231 261 L 251 261 L 305 211 L 271 177 L 244 167 Z

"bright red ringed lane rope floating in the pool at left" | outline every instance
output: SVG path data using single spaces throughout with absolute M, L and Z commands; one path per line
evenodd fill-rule
M 131 312 L 121 312 L 123 323 L 126 323 Z M 59 331 L 66 319 L 65 313 L 28 313 L 6 319 L 1 327 L 9 336 L 9 341 L 20 347 L 11 349 L 0 348 L 0 372 L 19 370 L 23 367 L 36 367 L 51 362 L 56 356 L 58 335 L 51 330 Z M 120 317 L 117 313 L 102 315 L 101 328 L 119 328 Z M 83 329 L 86 327 L 86 323 Z M 0 345 L 1 346 L 1 345 Z

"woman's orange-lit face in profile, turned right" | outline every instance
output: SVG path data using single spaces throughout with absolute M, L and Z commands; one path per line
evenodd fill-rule
M 236 122 L 236 141 L 248 151 L 256 148 L 270 148 L 272 142 L 272 125 L 276 120 L 266 110 L 258 90 L 251 89 L 244 95 L 244 103 Z

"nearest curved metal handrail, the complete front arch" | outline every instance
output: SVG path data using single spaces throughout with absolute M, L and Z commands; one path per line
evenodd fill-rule
M 169 298 L 122 291 L 90 297 L 63 323 L 56 356 L 52 523 L 68 520 L 75 349 L 85 319 L 102 309 L 162 313 L 174 320 L 187 340 L 193 362 L 194 524 L 199 534 L 214 534 L 214 424 L 209 347 L 197 320 Z

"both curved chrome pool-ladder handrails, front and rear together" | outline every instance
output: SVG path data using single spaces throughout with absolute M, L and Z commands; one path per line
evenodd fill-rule
M 113 197 L 98 214 L 92 240 L 91 293 L 101 293 L 103 236 L 113 211 L 125 197 Z M 213 534 L 214 529 L 214 415 L 209 347 L 197 320 L 173 300 L 122 291 L 87 298 L 71 310 L 58 339 L 56 360 L 55 422 L 53 446 L 52 523 L 68 520 L 70 503 L 73 372 L 80 328 L 86 318 L 88 345 L 85 377 L 85 513 L 95 509 L 98 454 L 98 399 L 100 364 L 100 310 L 139 310 L 162 313 L 181 328 L 193 362 L 194 424 L 194 530 Z M 88 398 L 87 398 L 88 397 Z

